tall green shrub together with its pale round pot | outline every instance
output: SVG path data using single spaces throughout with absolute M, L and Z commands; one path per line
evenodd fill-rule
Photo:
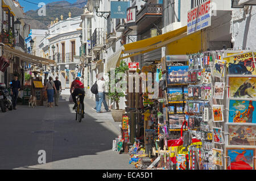
M 115 68 L 114 72 L 115 72 L 115 77 L 118 73 L 125 73 L 127 70 L 129 70 L 128 65 L 126 64 L 125 61 L 121 61 L 119 67 Z M 109 80 L 111 80 L 111 74 L 110 71 L 108 72 L 108 76 L 109 76 Z M 119 100 L 120 98 L 125 96 L 125 92 L 121 91 L 122 90 L 122 86 L 120 86 L 119 88 L 116 86 L 117 83 L 121 83 L 122 77 L 119 79 L 115 79 L 115 81 L 109 81 L 109 98 L 111 100 L 113 100 L 117 106 L 116 110 L 111 110 L 112 113 L 112 117 L 114 119 L 114 121 L 118 122 L 118 121 L 122 121 L 122 116 L 125 113 L 125 110 L 120 110 L 119 109 Z M 121 83 L 122 85 L 122 83 Z M 112 89 L 111 89 L 112 88 Z

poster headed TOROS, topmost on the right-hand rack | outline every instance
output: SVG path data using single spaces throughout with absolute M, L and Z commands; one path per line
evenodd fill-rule
M 247 52 L 233 54 L 232 56 L 224 57 L 229 75 L 256 75 L 255 69 L 255 52 Z

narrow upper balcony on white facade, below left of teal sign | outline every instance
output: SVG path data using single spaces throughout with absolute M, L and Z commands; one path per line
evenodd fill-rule
M 104 30 L 103 28 L 95 28 L 92 35 L 92 50 L 98 51 L 101 50 L 104 46 Z

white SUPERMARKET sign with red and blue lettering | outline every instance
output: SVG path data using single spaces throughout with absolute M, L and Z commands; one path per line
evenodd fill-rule
M 209 0 L 188 11 L 187 35 L 210 26 L 211 7 L 212 0 Z

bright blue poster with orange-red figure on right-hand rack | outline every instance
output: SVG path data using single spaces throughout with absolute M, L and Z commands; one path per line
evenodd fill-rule
M 229 100 L 229 123 L 256 123 L 256 102 L 253 100 Z

